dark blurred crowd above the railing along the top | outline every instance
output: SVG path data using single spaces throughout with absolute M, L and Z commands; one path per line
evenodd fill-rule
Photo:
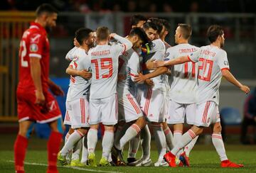
M 4 0 L 0 10 L 33 11 L 36 6 L 49 3 L 59 11 L 124 11 L 124 12 L 235 12 L 255 13 L 254 0 Z

